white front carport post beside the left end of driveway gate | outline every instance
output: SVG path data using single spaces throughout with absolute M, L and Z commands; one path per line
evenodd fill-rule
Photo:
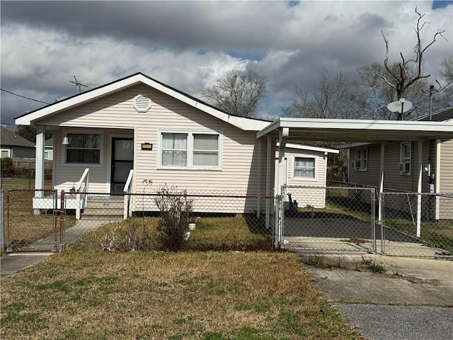
M 285 146 L 287 137 L 289 136 L 289 128 L 280 130 L 280 138 L 278 145 L 278 170 L 277 170 L 277 200 L 280 200 L 280 205 L 285 205 L 285 198 L 282 197 L 282 186 L 285 184 Z M 275 241 L 274 246 L 279 247 L 282 244 L 283 233 L 283 217 L 281 211 L 275 210 Z

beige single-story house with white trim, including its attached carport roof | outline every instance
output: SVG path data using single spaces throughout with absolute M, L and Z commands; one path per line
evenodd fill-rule
M 151 180 L 153 188 L 167 183 L 188 193 L 277 193 L 281 198 L 281 188 L 288 183 L 285 150 L 289 142 L 453 138 L 453 125 L 445 122 L 308 118 L 269 122 L 237 117 L 141 73 L 21 115 L 16 124 L 37 128 L 35 188 L 43 187 L 44 132 L 50 129 L 54 138 L 53 188 L 68 192 L 76 186 L 76 191 L 104 195 L 146 192 Z M 294 170 L 290 159 L 287 169 Z M 298 163 L 295 167 L 309 165 Z M 33 204 L 42 208 L 38 200 L 46 200 L 40 191 Z M 244 199 L 239 205 L 210 205 L 209 209 L 260 213 L 263 205 L 268 224 L 273 200 L 263 204 L 259 199 Z M 80 208 L 80 202 L 72 207 Z M 150 208 L 132 204 L 130 210 Z M 277 212 L 275 234 L 280 224 Z

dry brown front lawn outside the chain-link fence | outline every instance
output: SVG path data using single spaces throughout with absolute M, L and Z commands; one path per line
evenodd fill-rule
M 1 306 L 2 339 L 358 339 L 287 253 L 63 251 Z

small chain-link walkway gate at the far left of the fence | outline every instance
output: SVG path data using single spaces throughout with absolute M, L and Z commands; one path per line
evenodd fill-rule
M 38 192 L 42 193 L 42 197 L 34 198 Z M 32 206 L 33 200 L 35 209 Z M 45 200 L 52 200 L 53 209 L 45 208 L 48 207 Z M 39 208 L 40 202 L 42 209 Z M 57 251 L 59 223 L 57 191 L 25 189 L 6 191 L 4 246 L 7 252 Z

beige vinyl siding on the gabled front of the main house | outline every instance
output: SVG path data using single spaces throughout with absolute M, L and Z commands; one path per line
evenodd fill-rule
M 137 113 L 133 98 L 142 94 L 151 98 L 151 109 Z M 64 122 L 64 123 L 62 123 Z M 171 96 L 139 85 L 110 96 L 86 103 L 79 108 L 53 115 L 42 122 L 46 125 L 64 125 L 67 130 L 75 127 L 103 128 L 103 166 L 91 166 L 90 191 L 109 192 L 110 136 L 132 134 L 134 136 L 134 193 L 144 191 L 143 181 L 151 180 L 152 185 L 145 191 L 155 191 L 167 184 L 178 186 L 189 193 L 231 193 L 256 194 L 258 190 L 258 140 L 256 132 L 246 132 L 212 115 L 197 110 Z M 125 129 L 117 129 L 124 126 Z M 130 129 L 130 130 L 126 130 Z M 83 130 L 89 131 L 84 128 Z M 161 151 L 159 132 L 217 132 L 222 135 L 220 145 L 220 169 L 160 169 Z M 57 136 L 58 140 L 62 135 Z M 144 142 L 153 144 L 152 151 L 142 150 Z M 57 143 L 59 144 L 59 143 Z M 265 155 L 267 143 L 262 143 L 261 190 L 265 190 Z M 71 181 L 78 181 L 86 166 L 70 166 L 61 162 L 61 145 L 56 148 L 56 188 L 71 188 Z M 92 182 L 93 181 L 93 182 Z M 246 204 L 246 206 L 244 206 Z M 224 207 L 212 207 L 212 211 Z M 228 210 L 242 212 L 256 210 L 256 200 L 241 203 Z

